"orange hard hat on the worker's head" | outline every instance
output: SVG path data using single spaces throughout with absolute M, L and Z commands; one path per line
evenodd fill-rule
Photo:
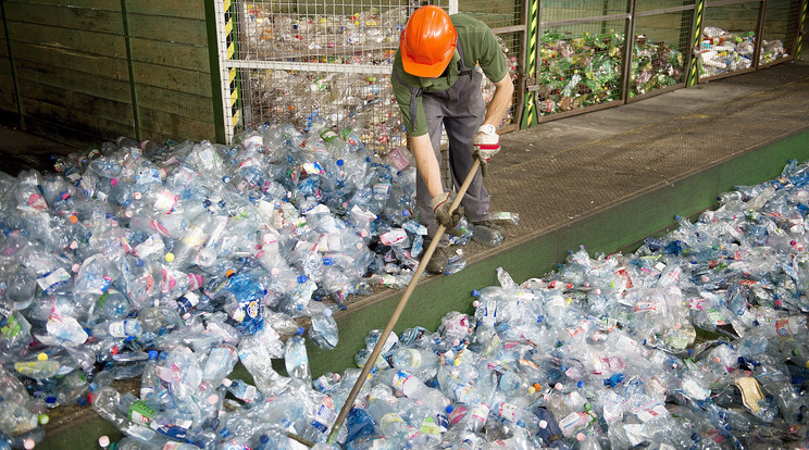
M 458 43 L 449 14 L 435 5 L 421 7 L 401 33 L 401 63 L 404 72 L 422 77 L 439 76 Z

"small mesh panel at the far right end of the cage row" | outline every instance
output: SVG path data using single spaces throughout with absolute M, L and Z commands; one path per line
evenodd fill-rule
M 798 37 L 800 0 L 769 0 L 764 9 L 759 65 L 791 60 Z

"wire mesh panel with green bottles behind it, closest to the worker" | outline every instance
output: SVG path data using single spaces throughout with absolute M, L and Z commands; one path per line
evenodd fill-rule
M 543 25 L 537 67 L 540 115 L 621 99 L 625 22 Z

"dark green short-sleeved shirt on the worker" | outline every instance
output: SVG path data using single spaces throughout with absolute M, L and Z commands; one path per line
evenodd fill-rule
M 473 68 L 475 65 L 480 65 L 488 79 L 494 83 L 501 80 L 508 74 L 508 64 L 491 29 L 483 22 L 468 14 L 453 14 L 449 18 L 452 21 L 452 25 L 455 25 L 458 33 L 458 41 L 463 50 L 463 62 L 465 65 Z M 397 72 L 404 85 L 398 83 L 395 76 L 390 77 L 390 83 L 394 87 L 396 101 L 399 103 L 399 109 L 401 110 L 404 126 L 411 136 L 426 134 L 427 120 L 424 115 L 424 105 L 422 104 L 421 96 L 416 97 L 416 126 L 413 127 L 412 118 L 410 117 L 410 101 L 412 96 L 408 86 L 420 88 L 424 92 L 449 89 L 458 80 L 458 76 L 460 75 L 460 70 L 458 68 L 459 59 L 460 55 L 458 54 L 458 50 L 456 50 L 452 59 L 449 61 L 448 70 L 444 71 L 441 76 L 422 78 L 404 72 L 401 65 L 400 51 L 396 51 L 394 71 Z

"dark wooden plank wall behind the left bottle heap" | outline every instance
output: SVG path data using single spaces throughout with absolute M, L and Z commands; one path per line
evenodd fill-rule
M 214 138 L 204 0 L 3 1 L 24 129 L 77 148 Z

